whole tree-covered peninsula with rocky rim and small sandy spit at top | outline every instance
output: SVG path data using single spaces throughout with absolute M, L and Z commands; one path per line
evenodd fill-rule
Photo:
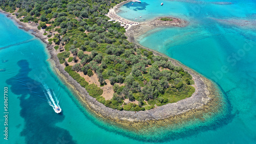
M 188 22 L 175 17 L 134 22 L 115 13 L 130 1 L 95 2 L 6 1 L 0 12 L 47 43 L 59 77 L 97 116 L 141 129 L 223 109 L 211 81 L 135 40 L 156 27 Z

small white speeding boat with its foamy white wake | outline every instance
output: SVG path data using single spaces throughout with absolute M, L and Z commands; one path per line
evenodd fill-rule
M 50 106 L 52 106 L 53 110 L 56 113 L 60 113 L 61 112 L 61 108 L 59 106 L 59 100 L 57 99 L 54 91 L 52 89 L 50 89 L 46 84 L 42 83 L 42 85 L 45 88 L 44 92 L 45 92 L 48 104 Z

